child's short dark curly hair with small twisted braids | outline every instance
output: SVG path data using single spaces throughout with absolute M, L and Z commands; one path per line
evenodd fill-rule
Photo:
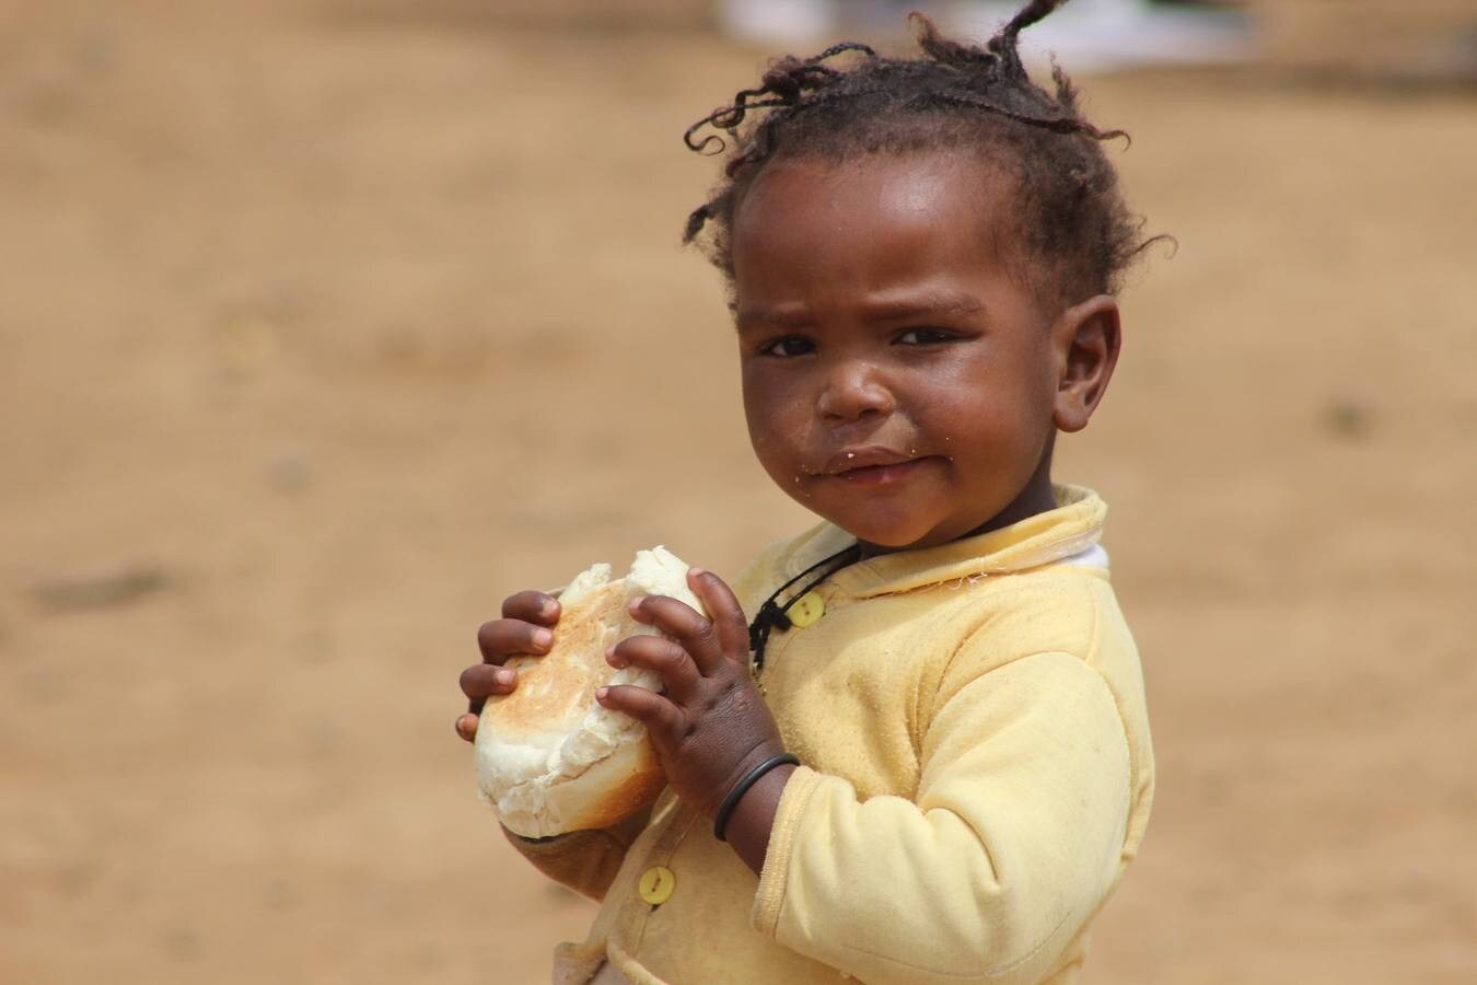
M 1013 183 L 1012 258 L 1034 289 L 1063 307 L 1115 292 L 1148 245 L 1099 146 L 1127 134 L 1087 123 L 1059 66 L 1052 71 L 1055 93 L 1034 84 L 1016 44 L 1024 28 L 1063 1 L 1031 0 L 982 47 L 945 38 L 925 15 L 911 13 L 920 58 L 885 58 L 846 41 L 811 58 L 774 61 L 756 89 L 741 90 L 684 134 L 700 154 L 728 148 L 716 133 L 699 139 L 703 127 L 725 133 L 733 146 L 722 180 L 688 216 L 682 242 L 709 227 L 706 253 L 731 288 L 734 214 L 768 164 L 964 148 Z M 861 58 L 839 68 L 833 59 L 845 53 Z M 756 109 L 768 112 L 753 121 Z

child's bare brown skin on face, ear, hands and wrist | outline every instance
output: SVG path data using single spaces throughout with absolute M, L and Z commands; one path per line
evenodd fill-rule
M 1059 304 L 1010 253 L 1009 182 L 967 151 L 771 162 L 733 224 L 736 323 L 749 436 L 786 493 L 864 554 L 947 543 L 1055 508 L 1056 431 L 1078 431 L 1120 349 L 1109 295 Z M 657 670 L 665 693 L 603 688 L 650 730 L 679 797 L 709 818 L 783 741 L 747 672 L 746 619 L 712 573 L 688 583 L 712 619 L 671 598 L 632 616 L 668 636 L 617 644 L 613 666 Z M 558 603 L 520 592 L 479 631 L 462 673 L 473 713 L 517 687 L 501 667 L 548 651 Z M 758 873 L 793 766 L 750 787 L 728 842 Z

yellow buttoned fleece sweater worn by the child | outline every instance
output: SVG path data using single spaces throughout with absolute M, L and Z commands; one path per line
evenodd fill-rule
M 843 569 L 818 620 L 774 632 L 761 684 L 805 766 L 759 877 L 671 792 L 617 828 L 513 837 L 604 901 L 554 981 L 609 960 L 634 985 L 1074 982 L 1143 837 L 1154 755 L 1106 507 L 1056 493 L 1003 530 Z M 849 542 L 821 524 L 770 548 L 734 585 L 744 611 Z

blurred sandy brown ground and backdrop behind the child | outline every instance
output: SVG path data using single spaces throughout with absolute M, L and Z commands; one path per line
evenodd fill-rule
M 1010 4 L 0 0 L 0 981 L 546 979 L 592 907 L 477 800 L 456 676 L 514 589 L 809 523 L 679 137 L 913 6 Z M 1477 4 L 1031 44 L 1179 239 L 1058 470 L 1161 784 L 1086 981 L 1477 981 Z

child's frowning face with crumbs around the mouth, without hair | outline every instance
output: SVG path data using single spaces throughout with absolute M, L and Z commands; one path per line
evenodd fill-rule
M 995 245 L 1009 207 L 1009 185 L 970 155 L 873 154 L 771 164 L 734 216 L 755 452 L 867 543 L 985 524 L 1038 476 L 1056 425 L 1075 430 L 1059 419 L 1072 331 Z M 1115 354 L 1117 309 L 1112 332 Z

